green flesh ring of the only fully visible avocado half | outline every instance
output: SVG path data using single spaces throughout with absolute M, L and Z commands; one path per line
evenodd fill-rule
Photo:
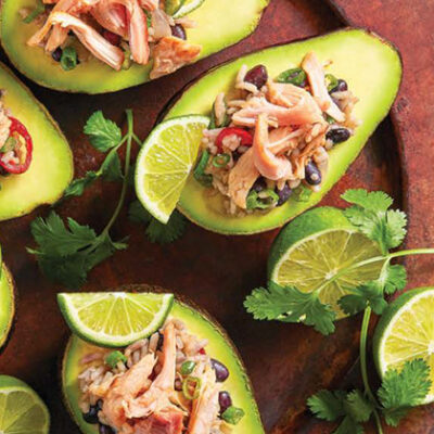
M 167 114 L 167 118 L 201 114 L 208 115 L 216 95 L 233 89 L 235 76 L 243 64 L 253 67 L 264 64 L 275 78 L 290 67 L 298 66 L 309 51 L 320 61 L 333 63 L 327 72 L 348 82 L 349 90 L 359 98 L 355 115 L 361 120 L 355 135 L 330 152 L 329 173 L 319 192 L 307 202 L 291 197 L 283 206 L 267 214 L 245 217 L 230 216 L 225 212 L 221 194 L 202 187 L 192 176 L 182 191 L 179 209 L 195 224 L 219 233 L 248 234 L 264 232 L 282 226 L 317 204 L 345 174 L 357 157 L 379 123 L 387 115 L 398 91 L 401 63 L 396 50 L 378 36 L 361 29 L 343 29 L 301 42 L 269 48 L 225 64 L 182 93 Z

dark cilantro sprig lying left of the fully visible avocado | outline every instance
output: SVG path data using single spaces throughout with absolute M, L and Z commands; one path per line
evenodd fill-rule
M 106 119 L 102 112 L 90 116 L 85 132 L 95 149 L 108 153 L 98 171 L 88 171 L 84 178 L 74 180 L 64 193 L 64 197 L 81 195 L 84 190 L 99 177 L 122 180 L 117 205 L 101 233 L 97 234 L 92 228 L 80 225 L 71 217 L 65 225 L 55 212 L 51 212 L 46 219 L 36 218 L 30 225 L 37 247 L 27 251 L 37 257 L 39 267 L 48 279 L 67 288 L 81 286 L 93 267 L 116 251 L 127 248 L 125 240 L 113 241 L 110 234 L 127 193 L 132 141 L 138 141 L 133 132 L 132 112 L 127 110 L 126 115 L 128 128 L 124 137 L 120 128 Z M 126 156 L 123 170 L 117 151 L 124 143 L 126 143 Z

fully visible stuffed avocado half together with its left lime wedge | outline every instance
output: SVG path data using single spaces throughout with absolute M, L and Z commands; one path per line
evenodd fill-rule
M 396 50 L 361 29 L 269 48 L 220 66 L 191 85 L 151 133 L 138 159 L 138 196 L 162 221 L 173 200 L 192 221 L 220 233 L 282 226 L 342 177 L 388 113 L 400 77 Z M 194 142 L 176 148 L 181 135 Z M 186 149 L 194 154 L 182 179 L 180 168 L 163 151 L 157 154 L 163 140 L 170 148 L 168 138 L 173 159 L 182 159 Z M 145 162 L 148 155 L 152 159 Z M 163 159 L 166 173 L 152 168 L 151 161 Z M 166 184 L 167 192 L 152 191 Z

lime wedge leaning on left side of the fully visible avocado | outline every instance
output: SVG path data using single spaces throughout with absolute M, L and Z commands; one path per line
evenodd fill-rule
M 163 224 L 177 206 L 208 124 L 208 117 L 195 115 L 166 120 L 151 132 L 137 157 L 136 193 Z

